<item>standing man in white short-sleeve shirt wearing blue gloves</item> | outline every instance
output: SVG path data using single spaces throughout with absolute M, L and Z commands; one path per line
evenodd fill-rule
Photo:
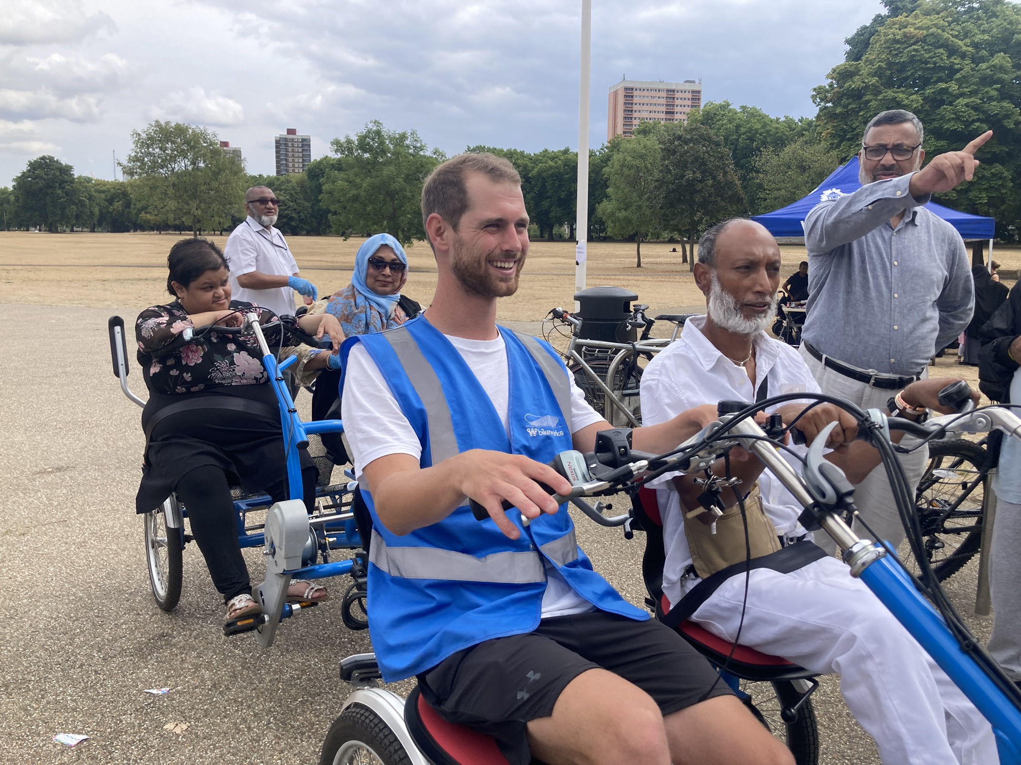
M 231 271 L 235 300 L 255 303 L 278 316 L 293 316 L 294 292 L 311 304 L 319 298 L 319 291 L 301 278 L 287 240 L 274 226 L 279 209 L 280 200 L 272 189 L 253 186 L 245 192 L 248 217 L 231 232 L 224 257 Z

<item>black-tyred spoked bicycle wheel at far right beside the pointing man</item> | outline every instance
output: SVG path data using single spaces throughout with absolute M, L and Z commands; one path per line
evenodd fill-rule
M 964 439 L 929 444 L 929 464 L 915 495 L 922 546 L 933 573 L 943 581 L 971 560 L 982 545 L 982 503 L 988 453 Z M 901 559 L 913 573 L 919 566 L 905 542 Z

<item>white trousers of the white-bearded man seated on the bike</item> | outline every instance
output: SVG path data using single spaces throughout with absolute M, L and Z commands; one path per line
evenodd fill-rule
M 744 575 L 732 576 L 692 620 L 733 641 L 743 600 Z M 740 642 L 815 673 L 839 673 L 847 707 L 886 765 L 1000 761 L 985 718 L 835 558 L 788 574 L 753 569 Z

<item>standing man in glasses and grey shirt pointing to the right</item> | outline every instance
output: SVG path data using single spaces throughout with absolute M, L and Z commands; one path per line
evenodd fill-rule
M 862 137 L 862 188 L 824 191 L 809 213 L 801 354 L 824 393 L 862 408 L 885 410 L 891 399 L 898 406 L 897 394 L 926 376 L 929 359 L 967 326 L 974 290 L 964 242 L 922 205 L 971 181 L 975 151 L 991 136 L 919 169 L 922 122 L 903 109 L 881 112 Z M 913 492 L 927 459 L 924 447 L 902 457 Z M 900 546 L 905 531 L 882 466 L 855 498 L 876 534 Z

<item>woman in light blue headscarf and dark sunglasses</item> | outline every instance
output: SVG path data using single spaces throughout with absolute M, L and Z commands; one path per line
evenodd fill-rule
M 335 293 L 325 310 L 340 321 L 347 338 L 392 329 L 422 312 L 421 305 L 400 294 L 406 282 L 404 248 L 389 234 L 377 234 L 358 248 L 351 284 Z M 340 418 L 340 370 L 335 367 L 336 360 L 315 381 L 312 419 Z M 336 464 L 347 462 L 339 435 L 325 434 L 323 444 Z

